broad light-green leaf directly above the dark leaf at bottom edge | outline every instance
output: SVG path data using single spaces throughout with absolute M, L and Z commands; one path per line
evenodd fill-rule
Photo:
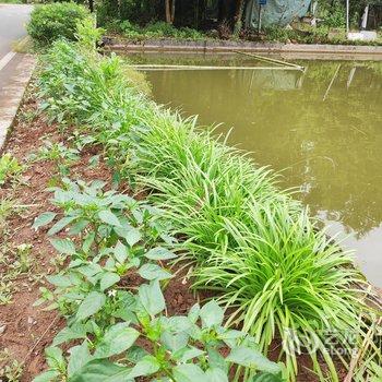
M 118 323 L 107 330 L 103 341 L 97 345 L 94 353 L 95 358 L 108 358 L 131 347 L 140 333 L 129 327 L 128 322 Z

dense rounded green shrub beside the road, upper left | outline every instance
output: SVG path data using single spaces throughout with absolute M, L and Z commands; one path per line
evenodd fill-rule
M 76 24 L 88 16 L 88 11 L 73 2 L 35 7 L 27 32 L 36 44 L 44 46 L 64 37 L 75 39 Z

